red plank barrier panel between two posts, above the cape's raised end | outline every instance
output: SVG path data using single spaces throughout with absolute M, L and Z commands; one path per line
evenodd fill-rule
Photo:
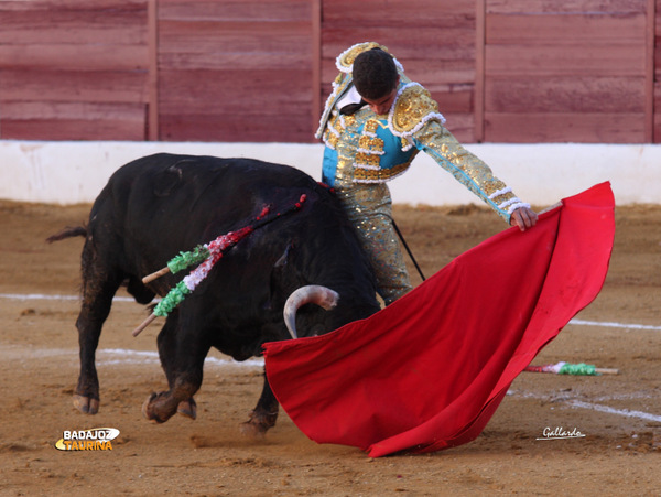
M 649 137 L 646 2 L 607 3 L 487 0 L 486 141 Z

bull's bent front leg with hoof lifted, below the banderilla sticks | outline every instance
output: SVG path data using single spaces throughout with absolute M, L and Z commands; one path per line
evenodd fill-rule
M 201 329 L 192 326 L 195 333 Z M 165 357 L 163 368 L 169 376 L 170 390 L 152 393 L 142 406 L 149 420 L 164 423 L 177 411 L 181 402 L 189 401 L 202 385 L 204 359 L 210 345 L 199 336 L 188 336 L 181 326 L 166 329 L 159 343 L 159 353 Z

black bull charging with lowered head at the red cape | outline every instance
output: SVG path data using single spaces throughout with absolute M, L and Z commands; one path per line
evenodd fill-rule
M 177 410 L 195 418 L 193 395 L 203 379 L 210 347 L 237 360 L 261 355 L 266 342 L 290 335 L 283 306 L 296 289 L 316 284 L 339 294 L 324 311 L 303 305 L 299 336 L 330 332 L 367 317 L 379 306 L 369 262 L 337 199 L 312 177 L 285 165 L 251 159 L 156 154 L 119 169 L 95 201 L 85 228 L 68 228 L 52 240 L 86 237 L 82 256 L 80 375 L 74 404 L 99 408 L 95 354 L 112 298 L 121 284 L 141 304 L 167 291 L 188 271 L 148 284 L 142 278 L 180 251 L 247 226 L 306 199 L 300 210 L 256 229 L 216 263 L 208 278 L 165 318 L 158 337 L 169 390 L 145 402 L 147 418 L 163 422 Z M 128 333 L 129 331 L 127 331 Z M 243 430 L 263 433 L 279 404 L 264 386 Z

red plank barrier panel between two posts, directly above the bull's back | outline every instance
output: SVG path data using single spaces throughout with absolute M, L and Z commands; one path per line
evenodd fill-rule
M 166 140 L 311 141 L 310 1 L 159 3 Z

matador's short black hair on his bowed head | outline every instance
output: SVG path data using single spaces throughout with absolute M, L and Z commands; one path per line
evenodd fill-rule
M 356 89 L 362 98 L 370 100 L 390 94 L 399 77 L 392 56 L 381 48 L 360 53 L 354 61 L 353 73 Z

